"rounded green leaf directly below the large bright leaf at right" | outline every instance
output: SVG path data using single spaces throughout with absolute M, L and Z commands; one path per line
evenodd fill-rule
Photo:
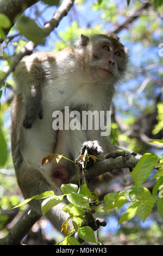
M 142 186 L 133 186 L 129 192 L 131 201 L 143 201 L 151 199 L 151 192 Z

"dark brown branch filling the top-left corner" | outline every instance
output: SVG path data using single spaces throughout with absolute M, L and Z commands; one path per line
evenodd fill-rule
M 38 2 L 38 0 L 2 0 L 0 3 L 0 13 L 8 16 L 11 21 L 11 26 L 9 28 L 4 29 L 5 35 L 7 35 L 11 29 L 11 27 L 16 22 L 16 16 L 21 14 L 31 5 Z M 2 39 L 0 39 L 0 43 L 2 43 Z

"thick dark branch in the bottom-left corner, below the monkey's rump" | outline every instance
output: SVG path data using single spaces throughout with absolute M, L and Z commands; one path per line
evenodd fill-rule
M 40 217 L 33 210 L 28 211 L 9 231 L 9 234 L 3 239 L 0 239 L 0 245 L 21 245 L 23 237 L 27 235 L 30 228 L 32 228 Z

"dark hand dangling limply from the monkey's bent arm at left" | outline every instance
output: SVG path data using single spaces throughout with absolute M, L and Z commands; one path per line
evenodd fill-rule
M 26 129 L 30 129 L 32 127 L 33 122 L 36 118 L 43 118 L 42 104 L 38 102 L 38 100 L 29 100 L 26 107 L 26 116 L 23 121 L 23 127 Z

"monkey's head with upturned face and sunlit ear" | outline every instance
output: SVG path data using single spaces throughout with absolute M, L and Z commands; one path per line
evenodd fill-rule
M 81 35 L 76 43 L 82 53 L 86 67 L 93 70 L 100 79 L 116 82 L 122 79 L 126 69 L 128 54 L 119 38 L 112 35 Z

